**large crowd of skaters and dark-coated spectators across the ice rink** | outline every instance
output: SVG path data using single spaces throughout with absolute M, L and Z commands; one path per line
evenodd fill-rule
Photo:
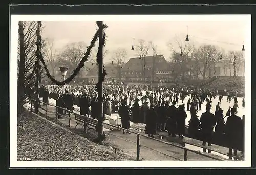
M 188 124 L 189 135 L 193 136 L 201 129 L 203 133 L 203 145 L 211 145 L 212 133 L 226 133 L 230 145 L 236 145 L 243 135 L 243 120 L 237 116 L 239 108 L 237 97 L 242 97 L 241 92 L 210 91 L 200 87 L 164 87 L 151 85 L 107 85 L 103 88 L 104 102 L 103 112 L 106 115 L 118 113 L 121 117 L 122 127 L 130 128 L 130 121 L 134 123 L 145 123 L 146 134 L 154 137 L 157 131 L 166 131 L 172 137 L 184 137 L 187 112 L 190 113 Z M 40 96 L 43 102 L 49 103 L 48 99 L 56 100 L 56 105 L 74 110 L 74 105 L 80 107 L 80 114 L 87 115 L 94 119 L 99 114 L 98 94 L 95 85 L 85 86 L 41 86 Z M 227 102 L 234 101 L 233 107 L 229 107 L 225 115 L 224 110 L 220 108 L 224 96 L 227 96 Z M 188 98 L 184 104 L 185 98 Z M 212 99 L 218 98 L 218 104 L 215 107 L 215 113 L 211 113 Z M 180 105 L 179 105 L 179 104 Z M 202 104 L 205 104 L 206 112 L 203 112 L 200 119 L 198 111 L 202 110 Z M 245 107 L 244 97 L 242 108 Z M 187 112 L 186 112 L 187 111 Z M 59 110 L 58 113 L 65 114 L 65 111 Z M 226 123 L 224 118 L 227 117 Z M 125 132 L 124 132 L 125 133 Z M 129 132 L 126 132 L 130 134 Z M 229 154 L 232 154 L 230 146 Z M 237 150 L 234 150 L 234 155 Z

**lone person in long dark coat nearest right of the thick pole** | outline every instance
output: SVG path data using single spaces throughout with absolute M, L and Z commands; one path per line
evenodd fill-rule
M 130 114 L 129 114 L 129 108 L 126 106 L 126 100 L 122 100 L 121 106 L 119 107 L 118 114 L 121 117 L 122 122 L 122 128 L 124 129 L 130 129 Z M 124 134 L 123 130 L 123 134 Z M 126 134 L 131 134 L 130 132 L 126 132 Z

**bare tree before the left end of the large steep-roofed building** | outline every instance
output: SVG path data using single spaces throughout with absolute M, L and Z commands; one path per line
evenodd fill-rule
M 148 54 L 148 50 L 150 49 L 150 45 L 145 42 L 145 40 L 140 39 L 138 41 L 138 45 L 136 45 L 136 52 L 138 56 L 141 58 L 141 77 L 145 81 L 145 57 Z

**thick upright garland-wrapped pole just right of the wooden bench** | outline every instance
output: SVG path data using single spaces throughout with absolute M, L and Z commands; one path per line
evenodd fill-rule
M 102 138 L 103 125 L 103 21 L 99 21 L 99 48 L 98 48 L 98 102 L 99 102 L 99 116 L 98 116 L 98 139 Z

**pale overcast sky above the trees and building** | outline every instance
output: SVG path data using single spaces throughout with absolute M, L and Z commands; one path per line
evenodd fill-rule
M 105 58 L 108 61 L 111 60 L 112 52 L 118 48 L 125 48 L 128 58 L 136 57 L 137 53 L 135 50 L 131 50 L 131 47 L 136 45 L 139 39 L 152 41 L 157 45 L 157 54 L 163 54 L 165 59 L 168 60 L 171 52 L 167 44 L 172 42 L 173 46 L 177 47 L 174 42 L 176 36 L 185 40 L 187 26 L 188 35 L 191 35 L 189 36 L 189 42 L 194 42 L 196 46 L 203 43 L 217 45 L 226 51 L 241 50 L 246 35 L 246 23 L 242 20 L 104 21 L 104 23 L 108 25 L 108 29 L 106 29 L 106 35 L 108 36 L 106 49 L 109 54 Z M 54 39 L 54 46 L 57 50 L 61 50 L 65 45 L 72 42 L 83 41 L 89 45 L 97 29 L 94 21 L 43 21 L 43 25 L 42 37 Z M 232 43 L 232 45 L 227 43 Z M 150 52 L 149 55 L 152 55 L 152 53 Z

